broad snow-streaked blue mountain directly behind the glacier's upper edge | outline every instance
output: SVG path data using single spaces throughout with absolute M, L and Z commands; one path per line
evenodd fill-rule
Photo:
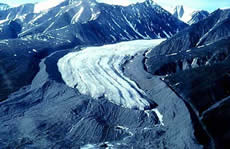
M 25 15 L 13 10 L 11 12 L 11 9 L 9 11 L 4 13 L 15 14 L 17 18 L 23 16 L 20 18 L 21 38 L 38 39 L 43 36 L 46 37 L 44 40 L 47 40 L 55 37 L 70 41 L 79 40 L 91 45 L 98 42 L 166 38 L 187 26 L 151 0 L 128 7 L 112 6 L 92 0 L 75 0 L 64 1 L 48 12 L 38 14 L 30 13 L 30 9 Z M 7 15 L 3 19 L 6 17 Z

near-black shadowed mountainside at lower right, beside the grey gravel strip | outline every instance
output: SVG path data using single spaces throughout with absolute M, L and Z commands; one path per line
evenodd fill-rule
M 158 70 L 158 74 L 167 72 L 165 82 L 188 103 L 217 149 L 230 147 L 229 45 L 230 37 L 195 48 L 194 52 L 182 52 L 171 56 L 174 60 L 168 63 L 166 59 L 164 69 Z

